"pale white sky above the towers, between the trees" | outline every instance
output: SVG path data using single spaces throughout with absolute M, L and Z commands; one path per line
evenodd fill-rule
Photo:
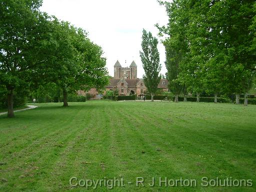
M 142 77 L 144 70 L 139 57 L 142 29 L 151 31 L 159 41 L 161 73 L 165 74 L 164 46 L 154 24 L 166 25 L 168 17 L 157 0 L 43 0 L 40 9 L 85 29 L 89 38 L 102 47 L 111 76 L 118 59 L 123 67 L 134 60 L 137 77 Z

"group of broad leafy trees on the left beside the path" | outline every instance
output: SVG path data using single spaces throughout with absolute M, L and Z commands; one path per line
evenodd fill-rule
M 87 33 L 39 11 L 41 0 L 0 1 L 0 85 L 13 117 L 13 94 L 54 83 L 67 94 L 108 83 L 102 49 Z

